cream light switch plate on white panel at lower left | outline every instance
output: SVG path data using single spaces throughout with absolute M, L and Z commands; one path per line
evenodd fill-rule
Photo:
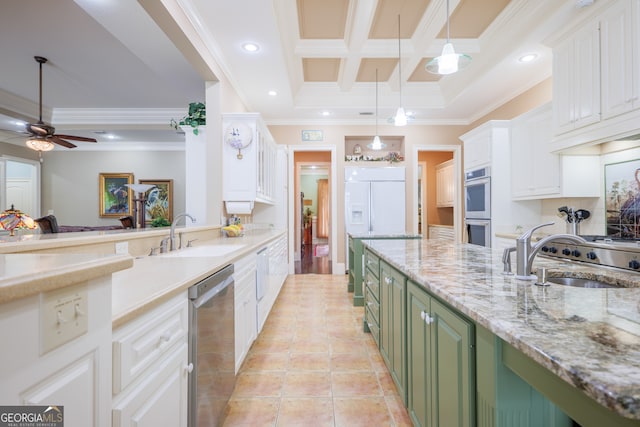
M 86 334 L 87 283 L 46 292 L 40 296 L 40 354 Z

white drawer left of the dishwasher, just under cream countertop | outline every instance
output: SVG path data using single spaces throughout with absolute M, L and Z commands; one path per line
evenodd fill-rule
M 187 293 L 154 308 L 113 333 L 113 393 L 124 390 L 174 344 L 187 343 Z

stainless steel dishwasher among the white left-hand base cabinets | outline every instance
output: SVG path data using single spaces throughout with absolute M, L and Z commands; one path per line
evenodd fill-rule
M 189 427 L 222 425 L 235 386 L 233 265 L 189 288 Z

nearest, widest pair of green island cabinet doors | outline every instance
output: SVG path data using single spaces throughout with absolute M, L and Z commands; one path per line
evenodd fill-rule
M 407 282 L 409 415 L 416 426 L 475 426 L 474 324 Z

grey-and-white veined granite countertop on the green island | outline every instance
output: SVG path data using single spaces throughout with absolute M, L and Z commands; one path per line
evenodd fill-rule
M 448 302 L 603 406 L 640 419 L 640 288 L 540 287 L 502 274 L 502 251 L 429 240 L 365 244 Z M 534 269 L 615 275 L 537 257 Z M 618 273 L 632 284 L 640 275 Z

